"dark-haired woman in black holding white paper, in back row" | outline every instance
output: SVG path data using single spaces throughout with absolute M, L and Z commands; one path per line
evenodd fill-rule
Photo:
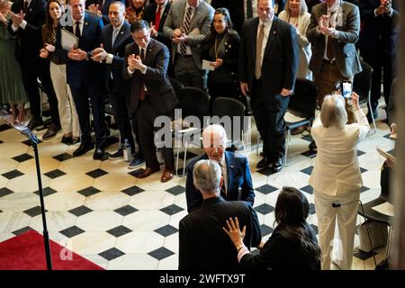
M 239 41 L 238 32 L 232 29 L 228 9 L 216 9 L 202 54 L 202 58 L 211 61 L 214 68 L 208 74 L 207 83 L 211 103 L 217 97 L 231 97 L 246 104 L 246 98 L 241 97 L 237 78 Z

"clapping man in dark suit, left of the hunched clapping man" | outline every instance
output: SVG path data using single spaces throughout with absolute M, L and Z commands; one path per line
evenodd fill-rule
M 106 64 L 105 82 L 112 104 L 114 120 L 118 130 L 120 130 L 120 147 L 109 156 L 113 160 L 123 157 L 125 139 L 128 139 L 131 151 L 135 152 L 129 114 L 130 81 L 125 81 L 122 78 L 125 46 L 132 43 L 133 40 L 130 36 L 130 24 L 125 21 L 124 4 L 119 1 L 112 2 L 108 17 L 111 24 L 103 27 L 103 46 L 94 49 L 92 58 L 94 61 L 103 61 Z M 133 127 L 136 127 L 135 120 Z M 138 134 L 137 130 L 134 130 L 134 134 Z M 130 167 L 135 168 L 135 163 L 137 163 L 136 166 L 141 166 L 144 163 L 141 153 L 138 153 L 131 161 Z

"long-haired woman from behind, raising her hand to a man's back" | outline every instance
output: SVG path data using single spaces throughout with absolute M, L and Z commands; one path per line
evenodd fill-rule
M 283 187 L 275 203 L 277 227 L 260 254 L 250 254 L 243 244 L 245 227 L 240 230 L 238 218 L 227 220 L 229 235 L 238 250 L 240 266 L 246 269 L 320 270 L 320 247 L 315 233 L 306 221 L 310 211 L 307 198 L 293 187 Z

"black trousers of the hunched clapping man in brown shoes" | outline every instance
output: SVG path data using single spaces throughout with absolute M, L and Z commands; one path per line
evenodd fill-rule
M 170 112 L 167 112 L 168 116 Z M 146 162 L 146 166 L 150 168 L 156 168 L 159 166 L 156 157 L 156 146 L 155 146 L 155 131 L 159 130 L 160 127 L 154 127 L 155 119 L 158 116 L 162 116 L 161 113 L 157 112 L 148 95 L 144 101 L 140 101 L 138 109 L 136 111 L 137 127 L 139 133 L 139 147 L 143 153 L 143 157 Z M 170 135 L 171 137 L 171 135 Z M 172 141 L 170 141 L 172 143 Z M 173 156 L 173 145 L 170 147 L 164 147 L 162 149 L 163 157 L 165 158 L 165 165 L 168 169 L 173 169 L 175 167 L 175 157 Z

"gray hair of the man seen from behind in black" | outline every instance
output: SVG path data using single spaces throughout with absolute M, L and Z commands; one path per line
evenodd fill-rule
M 216 193 L 220 189 L 220 165 L 213 160 L 200 160 L 193 167 L 193 184 L 201 193 Z

